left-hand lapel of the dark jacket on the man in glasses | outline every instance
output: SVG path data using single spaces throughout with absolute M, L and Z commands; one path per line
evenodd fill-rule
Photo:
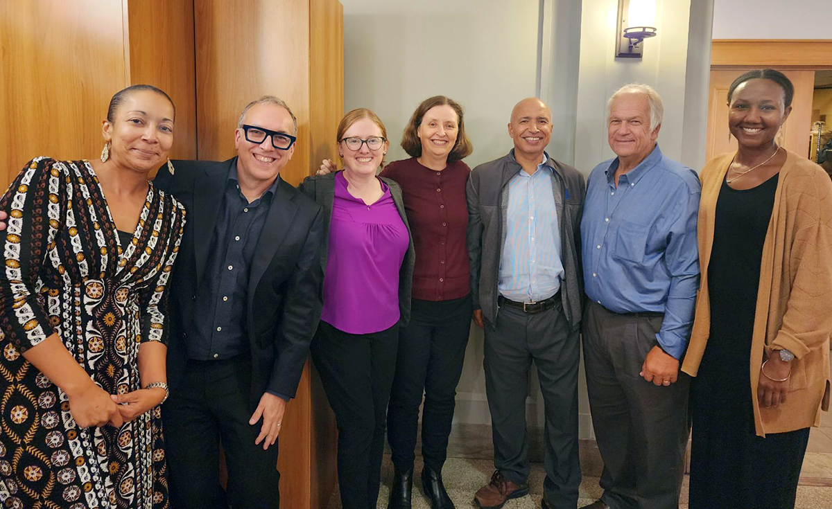
M 194 255 L 196 256 L 196 288 L 202 281 L 210 240 L 214 236 L 216 217 L 220 212 L 222 195 L 225 192 L 225 176 L 230 165 L 235 165 L 237 158 L 217 165 L 206 165 L 194 179 L 194 213 L 188 220 L 194 222 Z M 225 169 L 225 174 L 220 175 Z M 193 219 L 191 219 L 193 218 Z

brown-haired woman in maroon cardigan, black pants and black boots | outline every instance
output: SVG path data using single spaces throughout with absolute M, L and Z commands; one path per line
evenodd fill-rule
M 394 161 L 380 176 L 399 183 L 416 248 L 411 320 L 399 335 L 399 354 L 387 413 L 394 484 L 389 509 L 409 509 L 413 488 L 418 408 L 422 411 L 422 486 L 433 509 L 453 508 L 442 482 L 442 466 L 453 420 L 471 325 L 468 168 L 472 151 L 463 109 L 445 96 L 422 101 L 404 128 L 409 159 Z M 324 161 L 319 173 L 334 170 Z

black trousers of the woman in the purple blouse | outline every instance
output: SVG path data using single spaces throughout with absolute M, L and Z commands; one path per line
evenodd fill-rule
M 312 340 L 312 359 L 338 424 L 343 509 L 376 507 L 398 347 L 398 324 L 374 334 L 348 334 L 321 322 Z

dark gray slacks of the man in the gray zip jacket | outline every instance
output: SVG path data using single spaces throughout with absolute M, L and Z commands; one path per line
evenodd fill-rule
M 485 328 L 483 366 L 494 442 L 494 467 L 518 484 L 529 472 L 526 398 L 529 370 L 537 367 L 543 395 L 543 496 L 550 506 L 577 507 L 581 467 L 577 440 L 577 373 L 580 340 L 560 305 L 526 314 L 504 306 Z

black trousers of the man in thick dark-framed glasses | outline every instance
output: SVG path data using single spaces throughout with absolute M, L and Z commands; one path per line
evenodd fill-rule
M 262 420 L 249 424 L 251 362 L 245 355 L 188 361 L 181 387 L 162 405 L 171 507 L 277 509 L 277 445 L 255 445 Z M 228 490 L 220 486 L 220 444 Z

